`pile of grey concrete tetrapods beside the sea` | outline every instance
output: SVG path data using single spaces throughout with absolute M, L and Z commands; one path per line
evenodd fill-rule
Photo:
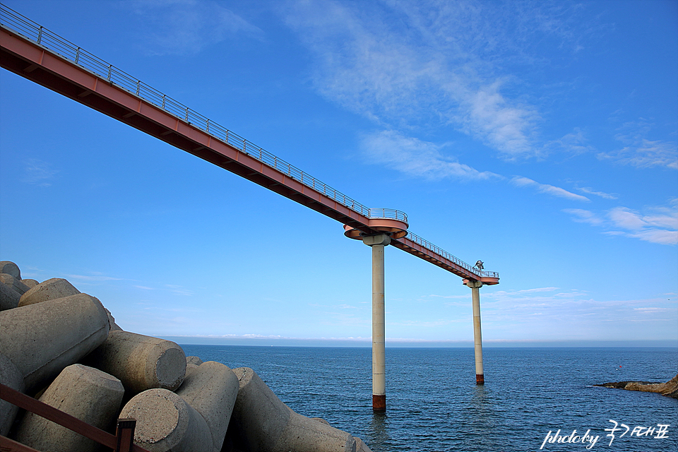
M 290 410 L 249 368 L 186 357 L 123 331 L 99 299 L 0 262 L 0 383 L 114 432 L 136 419 L 152 452 L 369 452 L 358 438 Z M 0 435 L 41 451 L 108 450 L 0 400 Z

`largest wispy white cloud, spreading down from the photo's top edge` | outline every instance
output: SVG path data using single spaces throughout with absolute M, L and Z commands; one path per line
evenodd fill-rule
M 516 90 L 521 81 L 499 68 L 545 63 L 534 57 L 538 39 L 555 37 L 571 52 L 581 39 L 554 4 L 288 5 L 287 23 L 314 57 L 319 93 L 389 128 L 451 126 L 507 160 L 542 153 L 541 115 Z

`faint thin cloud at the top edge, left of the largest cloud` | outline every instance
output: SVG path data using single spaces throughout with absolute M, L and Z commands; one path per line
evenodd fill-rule
M 149 54 L 196 54 L 227 39 L 262 40 L 264 32 L 214 0 L 134 0 Z M 152 31 L 150 31 L 152 30 Z

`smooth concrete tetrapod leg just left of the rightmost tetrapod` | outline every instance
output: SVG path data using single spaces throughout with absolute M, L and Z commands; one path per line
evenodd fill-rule
M 191 369 L 176 391 L 207 422 L 214 452 L 219 452 L 224 444 L 238 389 L 238 378 L 229 367 L 208 361 Z

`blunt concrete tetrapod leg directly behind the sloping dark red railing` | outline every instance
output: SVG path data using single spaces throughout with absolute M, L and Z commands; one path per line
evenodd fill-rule
M 120 410 L 125 390 L 120 380 L 98 369 L 73 364 L 66 367 L 40 396 L 40 401 L 107 430 Z M 66 427 L 27 412 L 20 421 L 16 440 L 51 452 L 95 452 L 100 445 Z

